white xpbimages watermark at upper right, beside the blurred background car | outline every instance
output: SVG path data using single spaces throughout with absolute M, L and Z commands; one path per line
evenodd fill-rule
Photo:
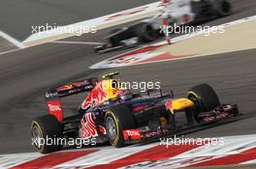
M 176 23 L 172 26 L 159 26 L 160 33 L 170 36 L 172 34 L 193 34 L 200 33 L 205 36 L 210 36 L 213 34 L 223 34 L 225 33 L 224 26 L 189 26 L 189 25 L 177 25 Z

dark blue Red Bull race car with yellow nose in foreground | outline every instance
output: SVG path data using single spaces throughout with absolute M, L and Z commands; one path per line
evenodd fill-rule
M 150 89 L 146 94 L 119 87 L 113 76 L 86 78 L 51 88 L 46 93 L 48 115 L 32 120 L 33 145 L 43 154 L 61 150 L 61 139 L 82 139 L 95 143 L 110 142 L 116 148 L 140 143 L 193 127 L 210 127 L 239 117 L 237 104 L 220 103 L 208 84 L 197 85 L 185 98 L 173 92 Z M 87 93 L 78 113 L 63 117 L 61 98 Z M 51 144 L 48 144 L 51 139 Z M 52 141 L 54 140 L 55 141 Z

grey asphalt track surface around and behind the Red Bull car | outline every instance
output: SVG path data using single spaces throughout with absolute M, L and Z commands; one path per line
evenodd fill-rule
M 108 4 L 110 1 L 104 2 Z M 256 14 L 255 0 L 233 2 L 233 15 L 207 24 L 217 25 Z M 116 9 L 116 6 L 108 8 L 114 11 L 112 8 Z M 68 41 L 95 42 L 109 31 L 102 30 L 95 35 Z M 46 114 L 44 92 L 48 86 L 112 71 L 88 70 L 88 67 L 120 52 L 123 51 L 99 55 L 93 53 L 91 45 L 48 43 L 0 55 L 0 154 L 34 152 L 30 140 L 30 122 L 32 118 Z M 256 115 L 255 55 L 256 50 L 251 49 L 114 70 L 119 70 L 120 78 L 124 80 L 161 81 L 164 91 L 172 89 L 176 97 L 184 96 L 193 85 L 208 83 L 222 101 L 238 102 L 242 113 Z M 82 97 L 64 100 L 66 109 L 75 111 Z M 255 124 L 256 118 L 252 117 L 188 136 L 250 134 L 255 133 Z

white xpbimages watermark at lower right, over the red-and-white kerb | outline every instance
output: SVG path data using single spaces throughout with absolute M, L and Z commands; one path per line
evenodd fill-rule
M 184 135 L 172 138 L 160 138 L 160 145 L 164 145 L 167 148 L 171 145 L 195 145 L 195 146 L 223 146 L 225 144 L 224 138 L 187 138 Z

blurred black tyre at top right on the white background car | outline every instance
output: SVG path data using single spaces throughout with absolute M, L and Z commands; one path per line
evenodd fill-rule
M 228 0 L 213 0 L 212 10 L 218 17 L 230 15 L 232 13 L 232 4 Z

